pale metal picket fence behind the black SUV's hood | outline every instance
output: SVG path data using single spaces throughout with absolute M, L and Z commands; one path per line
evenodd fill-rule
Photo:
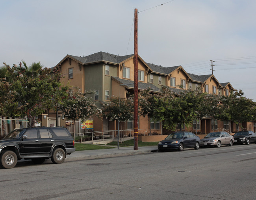
M 15 128 L 27 128 L 29 120 L 27 118 L 13 118 L 0 116 L 0 136 L 5 136 Z

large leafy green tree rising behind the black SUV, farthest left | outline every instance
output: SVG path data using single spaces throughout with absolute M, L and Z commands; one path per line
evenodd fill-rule
M 53 109 L 57 103 L 62 104 L 61 98 L 66 96 L 68 86 L 61 87 L 58 70 L 43 68 L 40 62 L 30 66 L 23 62 L 23 66 L 20 63 L 13 67 L 4 63 L 1 69 L 5 70 L 1 78 L 2 115 L 27 116 L 34 127 L 36 116 Z

